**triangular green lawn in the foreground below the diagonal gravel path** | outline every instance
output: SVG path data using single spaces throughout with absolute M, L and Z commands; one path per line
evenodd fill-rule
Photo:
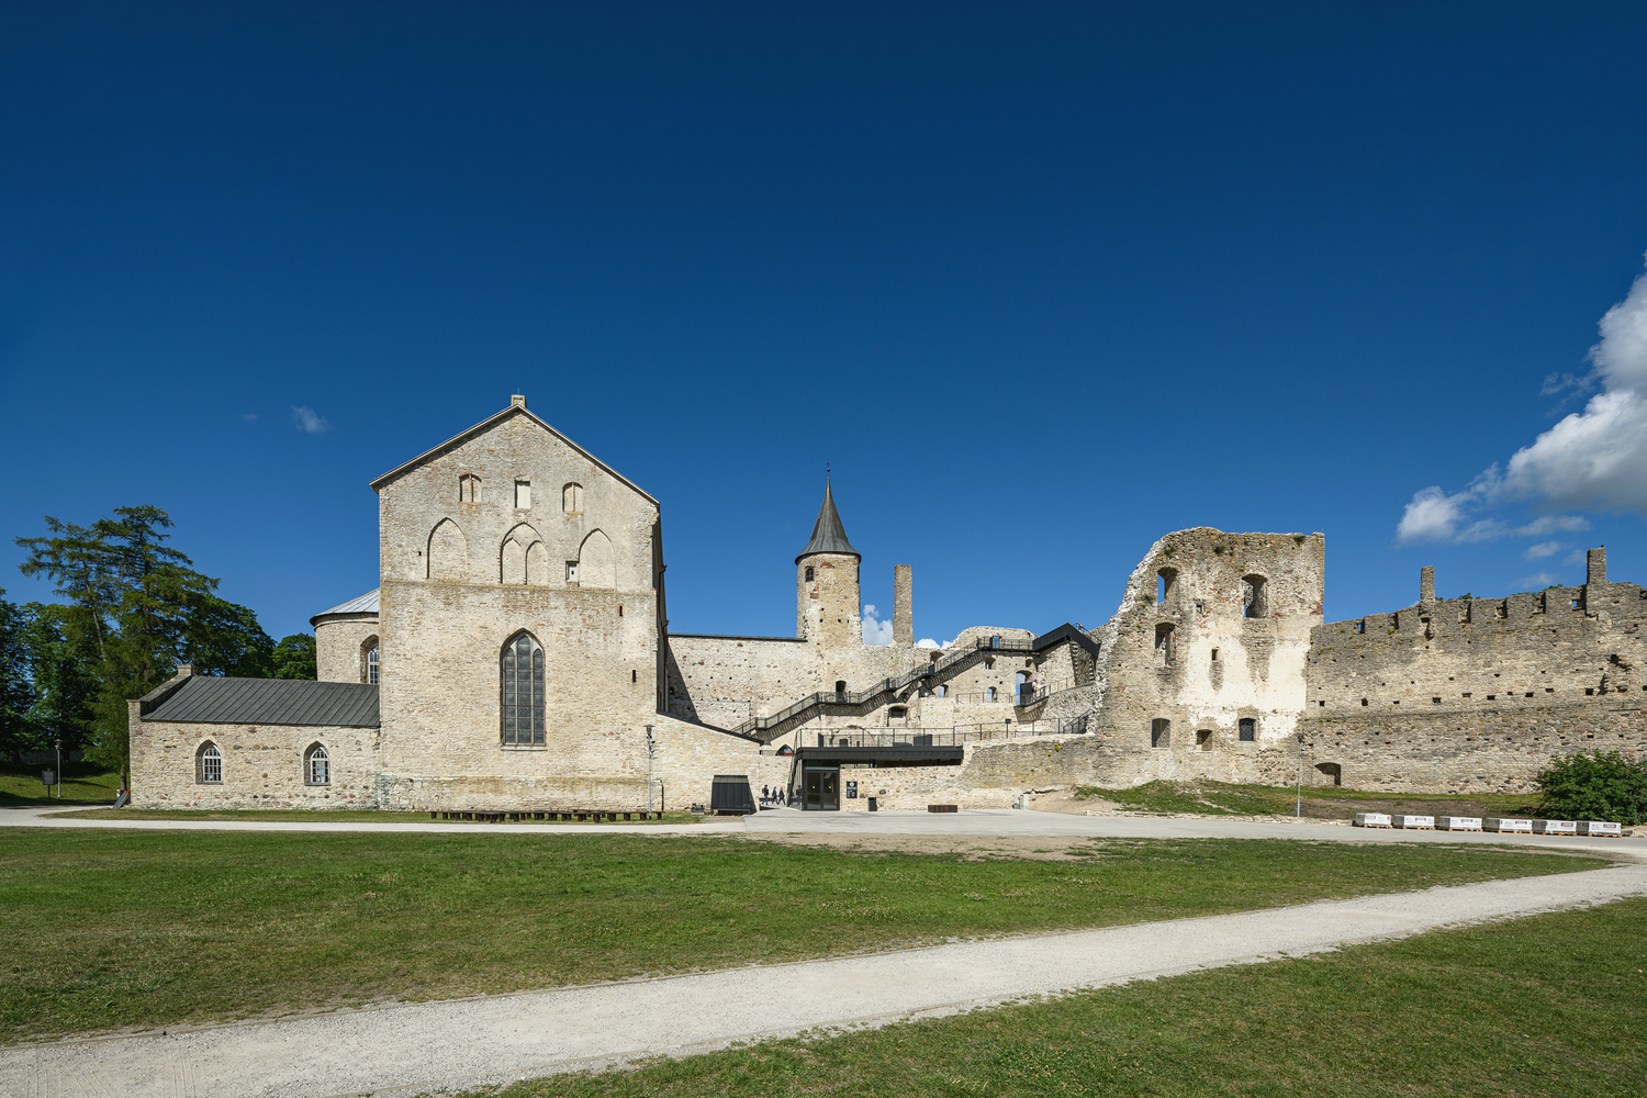
M 1640 1098 L 1647 900 L 815 1040 L 501 1098 Z

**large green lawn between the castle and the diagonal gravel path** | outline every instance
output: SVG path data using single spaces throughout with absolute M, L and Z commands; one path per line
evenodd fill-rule
M 525 830 L 8 831 L 0 1034 L 440 999 L 1604 864 L 1486 844 L 1074 849 L 1072 861 L 967 861 Z

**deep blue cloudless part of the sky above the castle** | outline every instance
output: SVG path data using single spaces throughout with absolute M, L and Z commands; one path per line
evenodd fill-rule
M 376 584 L 367 481 L 514 392 L 662 500 L 680 632 L 792 632 L 825 461 L 939 640 L 1097 626 L 1192 525 L 1326 532 L 1329 619 L 1647 581 L 1629 499 L 1466 499 L 1642 272 L 1644 49 L 1639 3 L 5 5 L 0 586 L 156 504 L 306 629 Z

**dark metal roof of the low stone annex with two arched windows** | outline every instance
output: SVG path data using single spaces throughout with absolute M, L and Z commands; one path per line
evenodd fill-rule
M 377 728 L 377 685 L 196 675 L 145 713 L 143 719 Z

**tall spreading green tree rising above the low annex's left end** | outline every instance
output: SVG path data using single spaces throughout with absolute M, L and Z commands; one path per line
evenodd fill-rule
M 217 673 L 268 673 L 272 649 L 252 611 L 214 593 L 217 579 L 166 545 L 171 519 L 158 507 L 117 507 L 77 527 L 46 517 L 48 537 L 16 538 L 25 576 L 48 576 L 77 611 L 97 649 L 97 695 L 86 757 L 128 777 L 127 701 L 201 660 Z

